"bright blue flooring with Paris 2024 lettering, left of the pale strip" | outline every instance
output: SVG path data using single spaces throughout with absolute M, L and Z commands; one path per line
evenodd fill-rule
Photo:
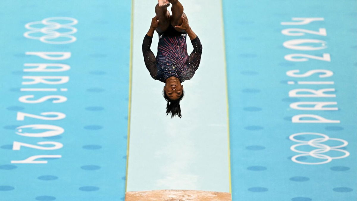
M 131 1 L 0 5 L 0 200 L 124 200 Z

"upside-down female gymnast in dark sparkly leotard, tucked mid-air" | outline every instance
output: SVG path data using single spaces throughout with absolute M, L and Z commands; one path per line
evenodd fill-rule
M 155 7 L 156 15 L 152 18 L 150 29 L 142 43 L 142 53 L 151 77 L 165 83 L 162 94 L 167 102 L 166 116 L 171 114 L 171 118 L 176 115 L 181 118 L 181 83 L 191 79 L 200 65 L 202 45 L 188 25 L 181 3 L 178 0 L 158 1 Z M 172 15 L 167 10 L 170 3 Z M 155 30 L 159 34 L 156 57 L 150 50 Z M 186 35 L 190 37 L 193 45 L 190 56 L 187 54 Z

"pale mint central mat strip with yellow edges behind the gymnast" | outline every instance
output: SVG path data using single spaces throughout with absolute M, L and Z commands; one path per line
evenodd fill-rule
M 220 1 L 205 2 L 182 1 L 190 26 L 202 43 L 202 58 L 192 79 L 182 83 L 181 119 L 166 117 L 165 83 L 152 79 L 142 56 L 142 41 L 155 16 L 156 2 L 134 2 L 127 191 L 230 192 L 222 8 Z M 215 34 L 206 31 L 212 23 L 217 26 Z M 158 41 L 155 32 L 151 44 L 155 55 Z M 188 36 L 186 43 L 191 54 Z M 214 85 L 208 87 L 210 82 Z

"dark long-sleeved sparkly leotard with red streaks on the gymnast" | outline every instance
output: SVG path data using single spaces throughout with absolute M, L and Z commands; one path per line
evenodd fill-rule
M 193 77 L 200 65 L 202 45 L 198 37 L 191 40 L 193 51 L 188 56 L 186 36 L 187 33 L 178 32 L 170 25 L 166 31 L 159 34 L 155 58 L 150 50 L 152 37 L 145 35 L 142 52 L 146 68 L 152 78 L 165 83 L 167 78 L 174 76 L 182 83 Z

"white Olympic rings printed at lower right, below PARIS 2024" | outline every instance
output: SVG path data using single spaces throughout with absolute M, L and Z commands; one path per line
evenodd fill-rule
M 296 136 L 300 136 L 300 135 L 317 135 L 317 136 L 321 136 L 321 138 L 315 138 L 315 139 L 311 139 L 309 141 L 303 141 L 303 140 L 295 139 Z M 341 147 L 347 146 L 348 142 L 346 140 L 338 139 L 338 138 L 330 138 L 327 135 L 322 134 L 322 133 L 295 133 L 295 134 L 292 134 L 289 137 L 289 139 L 294 141 L 294 142 L 299 142 L 299 144 L 295 144 L 295 145 L 290 147 L 290 149 L 292 151 L 297 152 L 297 153 L 302 153 L 302 154 L 293 156 L 291 158 L 291 160 L 296 162 L 296 163 L 305 164 L 305 165 L 320 165 L 320 164 L 329 163 L 333 159 L 346 158 L 347 156 L 350 156 L 350 152 L 348 152 L 346 150 L 343 150 L 343 149 L 339 149 Z M 340 141 L 340 142 L 342 142 L 342 144 L 338 145 L 338 146 L 332 146 L 332 147 L 330 147 L 330 146 L 328 146 L 326 144 L 321 144 L 322 142 L 326 142 L 328 140 Z M 317 149 L 314 149 L 312 151 L 300 151 L 300 150 L 296 149 L 296 147 L 304 146 L 304 145 L 309 145 L 311 147 L 316 147 Z M 331 156 L 327 156 L 327 155 L 322 154 L 322 153 L 326 153 L 328 151 L 339 151 L 339 152 L 344 153 L 344 155 L 337 156 L 337 157 L 331 157 Z M 296 160 L 296 158 L 301 157 L 301 156 L 311 156 L 311 157 L 314 157 L 314 158 L 324 159 L 325 161 L 322 161 L 322 162 L 302 162 L 302 161 Z

